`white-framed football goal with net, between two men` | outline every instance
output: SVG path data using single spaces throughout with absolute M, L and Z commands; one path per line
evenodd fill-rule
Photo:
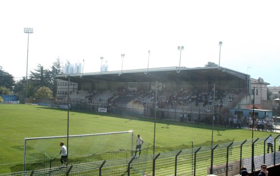
M 51 168 L 60 165 L 60 141 L 67 136 L 24 139 L 23 170 Z M 129 158 L 136 146 L 133 131 L 68 136 L 68 160 L 85 163 L 97 160 Z

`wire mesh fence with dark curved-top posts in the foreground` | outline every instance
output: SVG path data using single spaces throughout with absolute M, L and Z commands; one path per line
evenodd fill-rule
M 215 146 L 197 147 L 155 155 L 104 160 L 66 167 L 18 172 L 0 176 L 233 176 L 241 167 L 249 172 L 261 164 L 280 163 L 280 135 L 273 135 L 268 150 L 268 137 L 247 139 Z M 70 163 L 71 164 L 71 163 Z

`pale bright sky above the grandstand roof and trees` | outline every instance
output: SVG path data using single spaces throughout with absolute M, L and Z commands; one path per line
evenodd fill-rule
M 280 0 L 0 0 L 0 66 L 14 77 L 37 64 L 84 61 L 84 73 L 208 61 L 280 86 Z

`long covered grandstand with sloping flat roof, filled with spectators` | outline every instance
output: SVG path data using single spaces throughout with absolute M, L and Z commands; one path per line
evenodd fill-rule
M 250 75 L 218 66 L 64 74 L 57 79 L 56 103 L 67 105 L 69 93 L 72 109 L 140 117 L 154 117 L 156 110 L 157 118 L 206 124 L 214 115 L 216 124 L 227 125 L 234 118 L 228 109 L 253 104 Z

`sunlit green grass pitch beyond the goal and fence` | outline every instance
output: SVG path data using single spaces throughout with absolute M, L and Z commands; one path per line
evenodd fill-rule
M 145 142 L 153 144 L 154 118 L 122 117 L 107 113 L 88 113 L 71 110 L 69 135 L 111 133 L 133 130 Z M 194 146 L 211 141 L 212 126 L 175 121 L 156 120 L 155 146 Z M 254 138 L 271 133 L 254 131 Z M 32 105 L 0 104 L 0 174 L 10 173 L 10 167 L 23 163 L 26 137 L 52 137 L 67 135 L 67 110 Z M 213 140 L 252 138 L 252 131 L 214 126 Z M 59 152 L 57 144 L 57 153 Z M 179 149 L 178 149 L 179 150 Z

